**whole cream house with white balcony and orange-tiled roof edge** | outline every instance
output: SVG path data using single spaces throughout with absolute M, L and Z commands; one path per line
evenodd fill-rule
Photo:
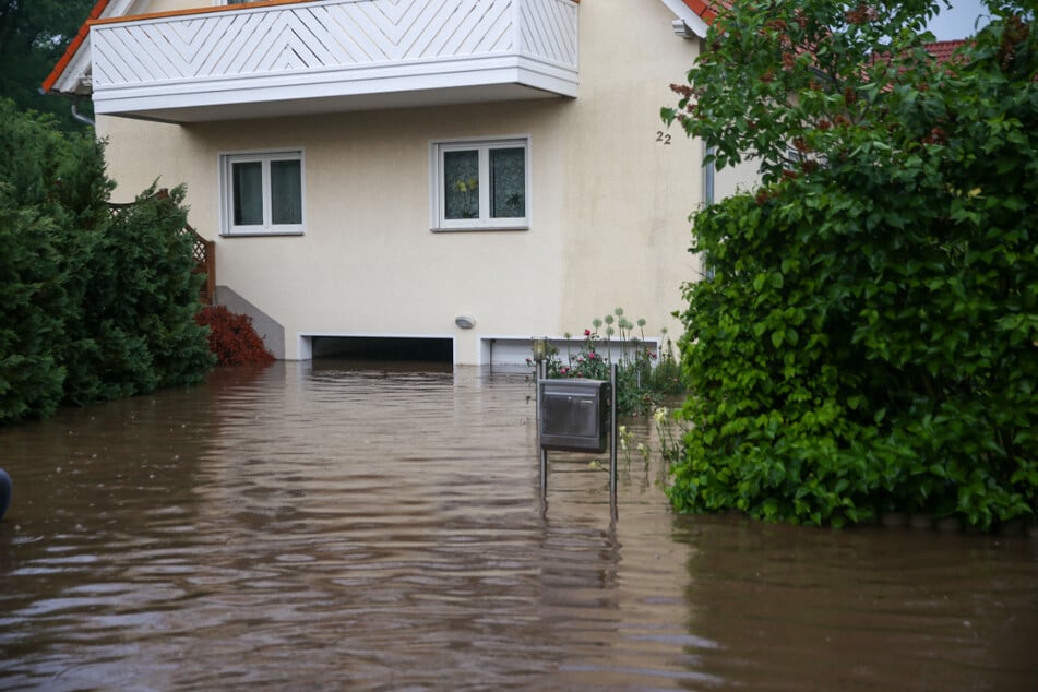
M 702 0 L 100 0 L 44 88 L 117 201 L 187 184 L 271 350 L 523 362 L 623 307 L 680 333 L 702 146 L 668 131 Z M 432 353 L 432 351 L 430 351 Z

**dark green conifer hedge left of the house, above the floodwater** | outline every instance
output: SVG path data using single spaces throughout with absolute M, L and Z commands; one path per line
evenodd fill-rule
M 0 100 L 0 422 L 200 380 L 183 192 L 112 214 L 104 147 Z

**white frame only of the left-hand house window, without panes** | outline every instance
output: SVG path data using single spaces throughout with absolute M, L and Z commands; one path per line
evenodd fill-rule
M 300 223 L 274 224 L 271 210 L 271 162 L 299 162 Z M 234 164 L 260 163 L 262 165 L 263 224 L 235 225 L 231 166 Z M 307 222 L 307 162 L 302 148 L 225 152 L 219 155 L 219 219 L 222 236 L 299 236 Z

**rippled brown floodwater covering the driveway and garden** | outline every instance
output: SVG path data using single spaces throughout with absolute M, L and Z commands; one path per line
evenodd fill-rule
M 616 520 L 594 456 L 542 502 L 532 394 L 278 363 L 0 429 L 0 689 L 1038 690 L 1033 535 L 678 516 L 636 453 Z

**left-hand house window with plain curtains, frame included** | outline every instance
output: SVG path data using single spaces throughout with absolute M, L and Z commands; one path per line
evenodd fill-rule
M 220 156 L 224 235 L 302 232 L 302 152 Z

